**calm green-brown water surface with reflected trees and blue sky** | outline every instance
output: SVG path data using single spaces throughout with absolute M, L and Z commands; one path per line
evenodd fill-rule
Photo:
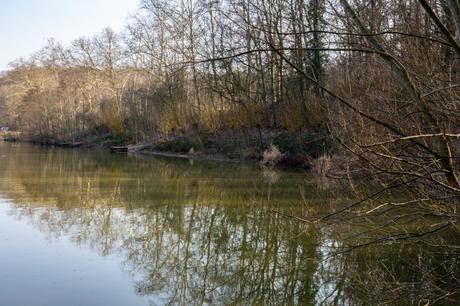
M 353 304 L 372 253 L 277 213 L 340 200 L 303 172 L 0 144 L 0 305 Z

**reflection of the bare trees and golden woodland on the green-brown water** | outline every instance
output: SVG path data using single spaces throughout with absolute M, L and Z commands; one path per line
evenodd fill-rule
M 386 257 L 395 248 L 330 257 L 347 243 L 335 231 L 273 213 L 304 214 L 299 190 L 309 211 L 329 205 L 304 173 L 26 145 L 0 155 L 14 215 L 49 239 L 119 257 L 136 292 L 164 304 L 359 304 L 368 292 L 356 281 L 378 271 L 369 262 L 386 258 L 407 275 L 401 256 Z

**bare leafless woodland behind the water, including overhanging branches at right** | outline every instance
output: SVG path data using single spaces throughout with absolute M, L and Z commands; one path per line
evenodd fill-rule
M 337 168 L 359 201 L 302 221 L 372 218 L 387 230 L 359 246 L 430 244 L 443 259 L 418 289 L 460 291 L 456 0 L 143 0 L 121 33 L 50 40 L 0 81 L 1 124 L 30 139 L 255 159 L 273 144 Z

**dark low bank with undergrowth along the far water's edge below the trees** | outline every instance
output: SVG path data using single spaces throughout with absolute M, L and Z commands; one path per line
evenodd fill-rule
M 61 148 L 83 148 L 101 149 L 112 153 L 140 153 L 147 155 L 169 156 L 177 158 L 189 158 L 197 160 L 227 161 L 236 163 L 260 163 L 272 162 L 264 160 L 264 153 L 267 154 L 267 144 L 275 144 L 285 153 L 278 153 L 276 163 L 271 166 L 283 168 L 301 168 L 308 170 L 312 167 L 315 159 L 324 155 L 334 154 L 336 147 L 333 147 L 332 140 L 324 137 L 316 137 L 308 134 L 290 134 L 286 131 L 258 131 L 254 132 L 252 145 L 244 146 L 244 142 L 235 141 L 238 137 L 249 139 L 249 135 L 242 136 L 226 132 L 227 138 L 219 143 L 214 135 L 201 134 L 201 136 L 178 136 L 169 139 L 158 138 L 156 140 L 144 141 L 141 143 L 123 143 L 113 135 L 93 136 L 79 138 L 73 142 L 59 142 L 50 139 L 35 139 L 20 137 L 18 132 L 9 132 L 0 137 L 8 142 L 28 142 L 43 146 L 55 146 Z M 8 135 L 15 135 L 11 137 Z M 0 135 L 1 136 L 1 135 Z M 300 137 L 299 137 L 300 136 Z M 304 139 L 302 139 L 304 137 Z M 233 140 L 232 140 L 233 139 Z M 247 142 L 246 142 L 247 143 Z M 228 149 L 231 148 L 231 149 Z

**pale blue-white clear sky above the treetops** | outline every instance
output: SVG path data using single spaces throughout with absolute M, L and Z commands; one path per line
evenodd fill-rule
M 43 47 L 111 27 L 121 30 L 139 0 L 0 0 L 0 71 Z

